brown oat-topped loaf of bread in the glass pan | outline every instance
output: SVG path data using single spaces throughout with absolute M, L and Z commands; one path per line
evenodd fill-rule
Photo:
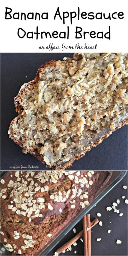
M 40 255 L 105 186 L 108 171 L 7 171 L 1 179 L 1 242 Z

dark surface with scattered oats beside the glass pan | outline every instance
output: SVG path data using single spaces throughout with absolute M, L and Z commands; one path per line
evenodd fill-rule
M 127 186 L 127 175 L 124 179 L 113 188 L 107 196 L 105 196 L 92 210 L 89 212 L 91 214 L 91 221 L 98 218 L 102 221 L 103 226 L 101 227 L 97 224 L 92 228 L 91 232 L 91 255 L 127 255 L 127 204 L 124 200 L 127 199 L 127 189 L 123 186 Z M 122 199 L 121 196 L 125 196 Z M 106 210 L 107 206 L 111 206 L 116 200 L 120 200 L 120 204 L 116 206 L 116 209 L 124 215 L 119 217 L 119 214 L 111 210 L 108 212 Z M 97 217 L 97 213 L 101 213 L 101 217 Z M 75 226 L 76 234 L 79 233 L 82 228 L 82 220 Z M 108 234 L 108 229 L 111 229 L 111 233 Z M 71 230 L 63 241 L 61 241 L 54 249 L 49 253 L 49 255 L 54 255 L 54 252 L 63 244 L 68 242 L 75 234 Z M 83 237 L 82 237 L 83 238 Z M 96 239 L 101 238 L 100 242 Z M 122 244 L 116 244 L 116 240 L 122 241 Z M 72 251 L 66 251 L 60 255 L 84 255 L 84 244 L 80 239 L 76 242 L 77 245 L 72 245 Z M 76 254 L 74 251 L 77 251 Z

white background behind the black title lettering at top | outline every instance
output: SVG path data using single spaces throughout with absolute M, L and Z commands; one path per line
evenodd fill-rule
M 62 43 L 65 46 L 73 46 L 75 44 L 80 44 L 84 46 L 92 46 L 97 44 L 97 50 L 68 50 L 63 52 L 127 52 L 127 24 L 128 24 L 128 11 L 127 11 L 127 1 L 126 0 L 95 0 L 95 1 L 85 1 L 85 0 L 5 0 L 1 1 L 1 52 L 49 52 L 49 50 L 39 50 L 39 46 L 48 46 L 50 43 L 54 46 L 59 45 L 61 47 Z M 63 25 L 59 17 L 54 20 L 54 14 L 57 7 L 60 7 L 60 12 L 77 12 L 78 6 L 80 7 L 80 12 L 104 12 L 106 15 L 110 12 L 124 12 L 124 19 L 112 19 L 112 20 L 88 20 L 80 19 L 77 17 L 73 20 L 73 25 L 70 25 L 69 18 L 66 20 L 66 24 Z M 14 12 L 48 12 L 48 20 L 5 20 L 5 7 L 12 8 L 12 13 Z M 20 39 L 17 35 L 18 28 L 23 28 L 26 32 L 36 31 L 36 26 L 38 26 L 39 32 L 54 30 L 65 31 L 67 26 L 69 26 L 69 39 L 38 39 L 36 36 L 34 39 L 28 39 L 24 37 Z M 75 39 L 75 27 L 79 26 L 83 28 L 83 31 L 91 32 L 92 30 L 98 31 L 108 31 L 108 26 L 111 28 L 111 40 L 109 39 L 92 39 L 89 35 L 87 38 Z M 52 52 L 62 52 L 62 50 L 54 50 Z

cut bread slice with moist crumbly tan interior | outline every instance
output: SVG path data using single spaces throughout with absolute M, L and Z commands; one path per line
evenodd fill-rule
M 127 54 L 75 53 L 42 65 L 15 97 L 9 136 L 63 170 L 127 123 Z

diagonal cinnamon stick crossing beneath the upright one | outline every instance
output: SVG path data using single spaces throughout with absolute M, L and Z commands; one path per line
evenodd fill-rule
M 91 228 L 93 228 L 99 222 L 98 219 L 95 219 L 91 222 Z M 83 236 L 83 230 L 81 230 L 76 236 L 70 239 L 66 244 L 63 244 L 59 249 L 57 249 L 58 254 L 66 250 L 69 246 L 74 244 L 81 236 Z

